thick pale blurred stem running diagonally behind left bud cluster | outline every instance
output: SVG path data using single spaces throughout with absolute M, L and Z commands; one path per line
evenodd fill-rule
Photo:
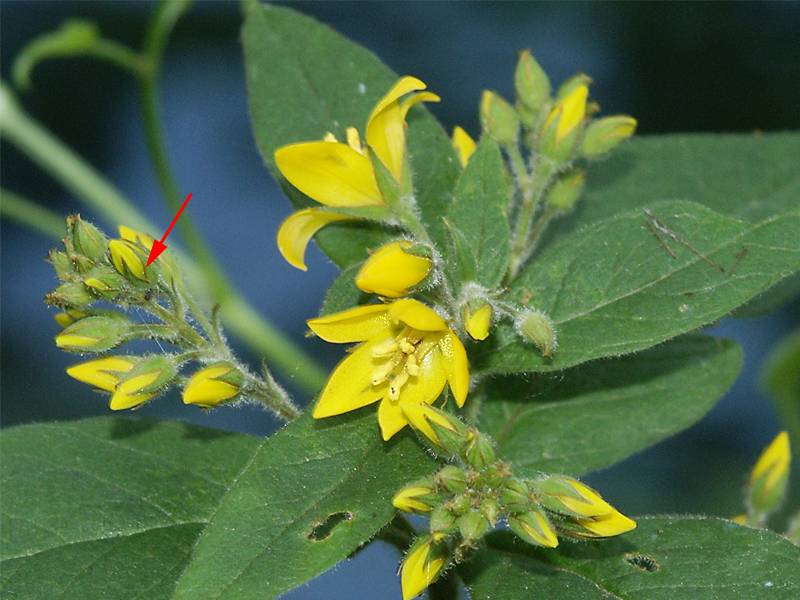
M 16 104 L 2 82 L 0 136 L 8 139 L 103 218 L 143 231 L 156 230 L 100 173 L 31 119 Z M 197 266 L 180 254 L 178 258 L 193 284 L 202 286 L 203 278 L 198 276 Z M 271 365 L 294 377 L 306 391 L 315 393 L 322 387 L 326 375 L 314 359 L 261 317 L 236 290 L 229 290 L 224 300 L 222 315 L 232 333 L 265 356 Z

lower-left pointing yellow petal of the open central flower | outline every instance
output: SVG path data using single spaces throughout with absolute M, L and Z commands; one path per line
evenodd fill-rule
M 315 419 L 356 410 L 376 402 L 384 394 L 385 385 L 371 383 L 372 371 L 377 366 L 372 350 L 389 339 L 390 335 L 378 336 L 361 344 L 336 366 L 314 407 Z

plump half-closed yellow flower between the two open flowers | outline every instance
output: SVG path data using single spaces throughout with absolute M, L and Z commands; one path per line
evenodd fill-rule
M 428 276 L 433 263 L 424 256 L 406 252 L 414 244 L 390 242 L 370 256 L 356 275 L 356 285 L 368 294 L 401 298 Z

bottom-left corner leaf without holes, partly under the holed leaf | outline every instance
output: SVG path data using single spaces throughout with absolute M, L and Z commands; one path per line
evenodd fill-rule
M 98 418 L 0 433 L 8 598 L 167 598 L 259 445 L 152 420 Z

